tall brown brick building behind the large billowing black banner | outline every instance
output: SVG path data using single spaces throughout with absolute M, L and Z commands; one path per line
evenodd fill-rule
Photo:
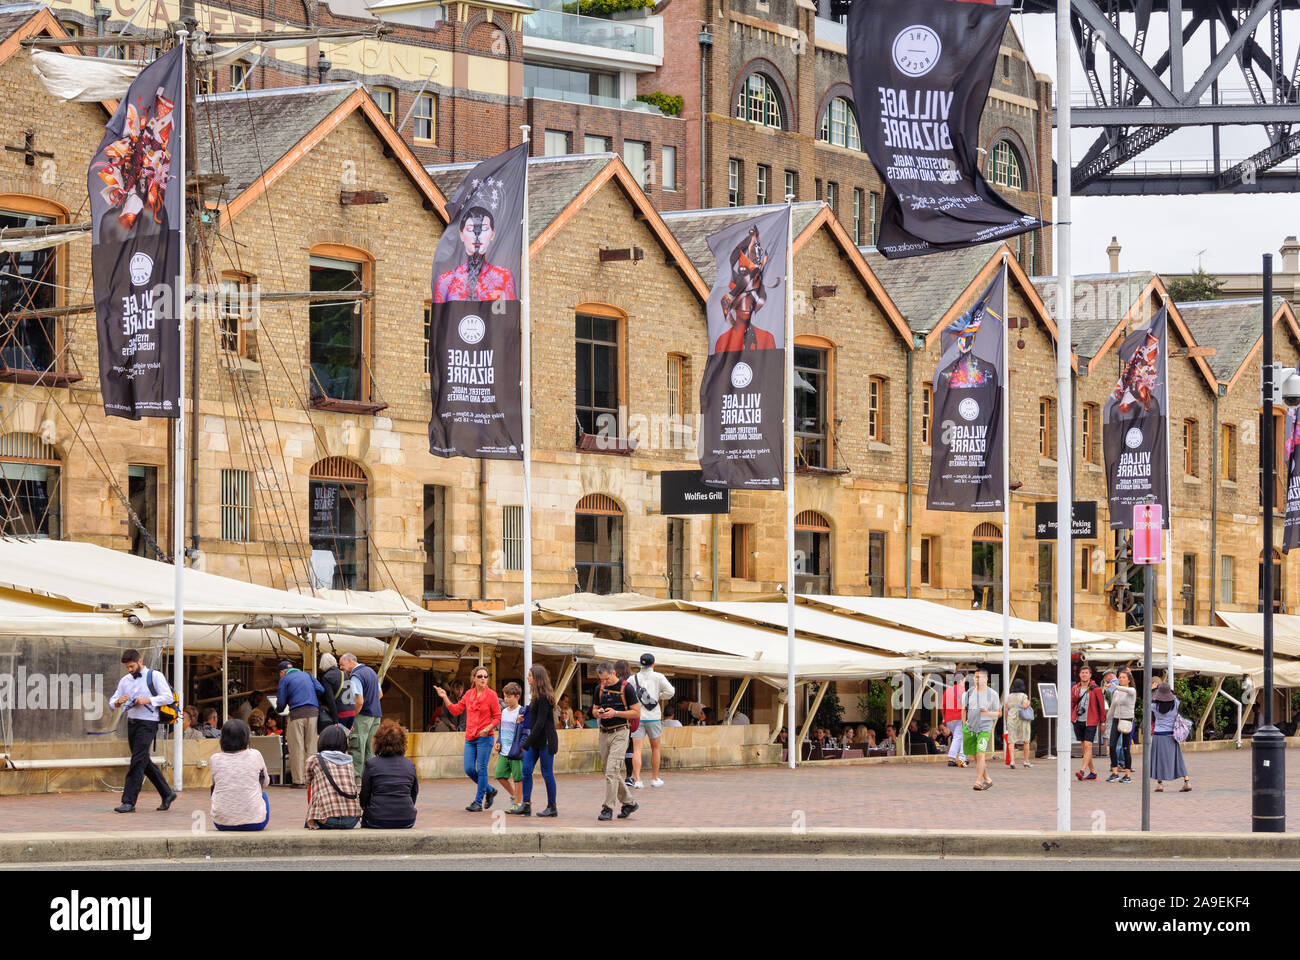
M 845 53 L 829 0 L 666 0 L 673 56 L 642 92 L 685 100 L 686 203 L 727 207 L 826 200 L 858 245 L 872 245 L 883 183 L 862 151 Z M 1020 209 L 1050 219 L 1050 81 L 1008 27 L 980 124 L 985 176 Z M 702 142 L 701 142 L 702 140 Z M 1030 274 L 1050 271 L 1050 232 L 1014 238 Z

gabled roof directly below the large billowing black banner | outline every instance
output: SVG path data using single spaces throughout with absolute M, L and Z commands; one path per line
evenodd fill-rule
M 944 328 L 961 316 L 967 303 L 993 282 L 1004 260 L 1011 287 L 1020 291 L 1030 311 L 1046 328 L 1048 336 L 1057 338 L 1052 312 L 1006 243 L 982 243 L 978 247 L 902 260 L 887 260 L 875 247 L 864 250 L 868 263 L 880 274 L 890 295 L 905 302 L 905 310 L 913 311 L 906 315 L 907 323 L 913 330 L 924 334 L 926 346 L 933 345 Z M 1079 358 L 1074 350 L 1070 351 L 1070 364 L 1079 368 Z

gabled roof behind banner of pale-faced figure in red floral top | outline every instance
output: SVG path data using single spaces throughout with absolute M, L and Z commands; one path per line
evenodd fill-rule
M 436 164 L 425 169 L 443 194 L 451 196 L 476 165 L 474 163 Z M 559 234 L 564 224 L 610 181 L 621 187 L 637 208 L 637 219 L 644 220 L 655 234 L 668 259 L 681 271 L 682 278 L 696 295 L 702 302 L 707 300 L 708 286 L 618 153 L 528 157 L 528 255 L 537 256 Z

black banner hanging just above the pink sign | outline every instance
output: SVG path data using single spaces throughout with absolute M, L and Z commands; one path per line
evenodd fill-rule
M 1134 505 L 1154 497 L 1169 529 L 1169 315 L 1165 307 L 1119 346 L 1119 382 L 1101 408 L 1110 528 L 1132 528 Z

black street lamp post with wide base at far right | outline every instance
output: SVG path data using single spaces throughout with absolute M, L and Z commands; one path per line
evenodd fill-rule
M 1287 741 L 1273 726 L 1273 490 L 1277 458 L 1273 450 L 1273 407 L 1277 386 L 1273 367 L 1273 254 L 1264 255 L 1264 416 L 1260 424 L 1260 479 L 1264 489 L 1264 554 L 1261 580 L 1264 606 L 1264 726 L 1251 739 L 1251 830 L 1282 834 L 1287 830 Z

